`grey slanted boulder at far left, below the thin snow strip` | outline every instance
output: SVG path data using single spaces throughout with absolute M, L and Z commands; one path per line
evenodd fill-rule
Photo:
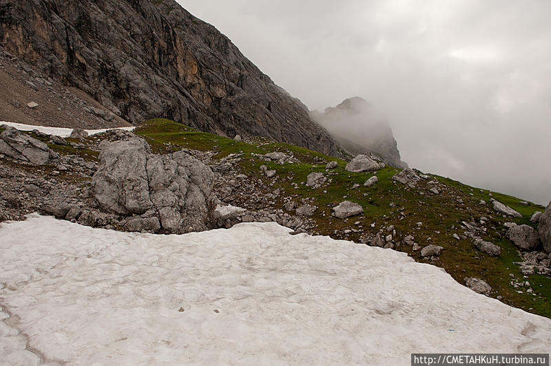
M 0 133 L 0 153 L 17 160 L 45 165 L 50 160 L 51 151 L 44 142 L 8 127 Z

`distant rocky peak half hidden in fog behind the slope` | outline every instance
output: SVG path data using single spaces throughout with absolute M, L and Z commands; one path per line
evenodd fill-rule
M 328 129 L 351 153 L 369 151 L 393 166 L 407 166 L 400 158 L 391 126 L 386 119 L 377 116 L 366 100 L 349 98 L 337 107 L 326 108 L 324 112 L 312 111 L 311 117 Z

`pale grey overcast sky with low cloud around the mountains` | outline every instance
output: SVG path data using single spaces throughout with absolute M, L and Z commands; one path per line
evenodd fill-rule
M 368 100 L 410 166 L 551 200 L 551 1 L 178 1 L 310 109 Z

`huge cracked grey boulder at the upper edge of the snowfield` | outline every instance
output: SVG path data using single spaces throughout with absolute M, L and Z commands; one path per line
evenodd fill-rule
M 183 151 L 154 155 L 138 137 L 100 147 L 92 195 L 103 210 L 127 216 L 153 210 L 165 233 L 211 227 L 214 174 L 205 164 Z

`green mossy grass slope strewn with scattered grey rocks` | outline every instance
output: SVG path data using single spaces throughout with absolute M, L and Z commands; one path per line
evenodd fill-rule
M 375 175 L 379 178 L 379 182 L 366 188 L 363 184 L 373 173 L 345 171 L 344 160 L 290 144 L 277 143 L 265 138 L 255 138 L 253 143 L 238 142 L 163 119 L 149 120 L 135 132 L 146 138 L 155 153 L 167 153 L 182 148 L 215 151 L 216 158 L 223 158 L 231 153 L 242 153 L 243 159 L 239 163 L 240 173 L 248 175 L 249 178 L 262 179 L 264 182 L 271 181 L 260 172 L 261 165 L 266 165 L 269 169 L 275 169 L 278 172 L 275 184 L 264 193 L 270 193 L 279 188 L 284 191 L 281 197 L 293 197 L 293 201 L 297 203 L 302 199 L 313 199 L 315 206 L 319 207 L 312 217 L 316 222 L 313 228 L 315 233 L 358 242 L 362 235 L 375 234 L 382 227 L 394 225 L 397 230 L 396 241 L 403 239 L 406 235 L 413 235 L 421 246 L 433 243 L 445 248 L 439 259 L 434 262 L 423 259 L 419 252 L 413 252 L 410 246 L 397 246 L 397 250 L 408 252 L 416 261 L 430 262 L 445 268 L 459 283 L 464 283 L 464 277 L 484 279 L 492 286 L 490 294 L 492 297 L 501 295 L 503 297 L 501 301 L 509 305 L 551 317 L 551 279 L 543 275 L 524 278 L 519 272 L 519 265 L 515 264 L 521 260 L 517 248 L 508 239 L 504 239 L 502 231 L 504 222 L 534 226 L 530 222 L 530 215 L 534 211 L 543 211 L 545 209 L 543 206 L 532 203 L 523 205 L 516 197 L 491 192 L 493 198 L 523 215 L 519 219 L 504 218 L 492 210 L 490 191 L 476 189 L 437 175 L 430 175 L 430 179 L 439 180 L 448 186 L 447 192 L 441 195 L 428 193 L 430 186 L 426 181 L 419 184 L 417 189 L 409 189 L 403 184 L 393 182 L 391 177 L 399 169 L 392 166 L 386 166 L 377 171 Z M 251 155 L 251 153 L 264 154 L 272 151 L 293 153 L 300 163 L 278 164 Z M 326 162 L 332 160 L 337 160 L 338 167 L 326 171 Z M 326 177 L 332 179 L 331 184 L 317 189 L 302 185 L 301 182 L 305 182 L 306 176 L 312 172 L 324 173 Z M 292 183 L 298 184 L 296 188 Z M 360 184 L 360 186 L 351 189 L 354 184 Z M 423 192 L 424 195 L 419 192 Z M 246 198 L 243 197 L 244 200 Z M 459 203 L 458 198 L 463 203 Z M 361 204 L 364 207 L 364 215 L 349 219 L 331 217 L 331 208 L 343 200 Z M 480 205 L 480 200 L 485 200 L 488 205 Z M 283 203 L 279 200 L 274 208 L 282 208 Z M 401 219 L 402 212 L 405 216 Z M 489 229 L 482 237 L 501 247 L 500 257 L 490 257 L 475 249 L 472 239 L 457 240 L 452 237 L 453 233 L 462 234 L 459 229 L 461 221 L 479 221 L 483 216 L 492 217 L 489 228 L 494 227 L 495 230 Z M 417 227 L 417 222 L 422 222 L 422 226 Z M 371 224 L 375 224 L 375 228 L 372 228 Z M 452 226 L 455 226 L 455 229 L 452 229 Z M 363 233 L 344 233 L 344 230 L 353 228 L 361 229 Z M 431 240 L 427 241 L 429 237 Z M 527 293 L 526 288 L 513 288 L 510 284 L 510 273 L 517 279 L 529 281 L 534 294 Z M 522 293 L 519 294 L 518 291 Z

